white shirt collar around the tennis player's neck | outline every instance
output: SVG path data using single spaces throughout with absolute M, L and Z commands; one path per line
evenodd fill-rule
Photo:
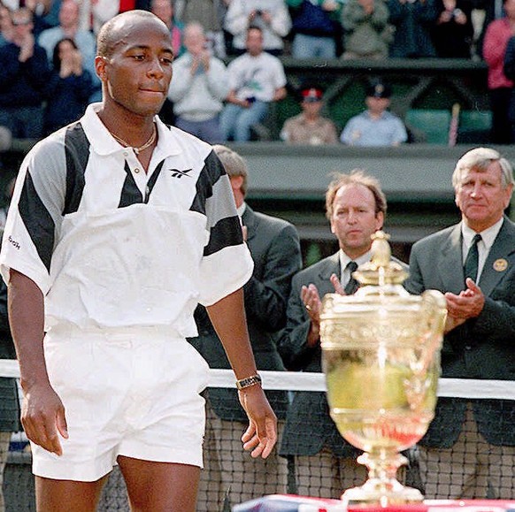
M 91 103 L 86 109 L 86 113 L 81 118 L 81 124 L 88 135 L 88 140 L 93 150 L 102 156 L 114 153 L 122 153 L 127 148 L 121 146 L 111 135 L 104 123 L 98 117 L 97 112 L 102 107 L 102 103 Z M 179 144 L 174 143 L 174 137 L 170 129 L 165 126 L 158 116 L 154 117 L 158 127 L 158 145 L 154 149 L 154 156 L 163 159 L 172 155 L 179 155 L 181 149 Z

